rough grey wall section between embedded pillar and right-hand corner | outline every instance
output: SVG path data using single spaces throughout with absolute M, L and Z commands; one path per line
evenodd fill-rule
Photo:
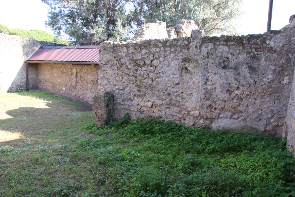
M 270 44 L 283 36 L 273 33 L 203 39 L 196 58 L 202 60 L 205 125 L 281 136 L 294 61 Z

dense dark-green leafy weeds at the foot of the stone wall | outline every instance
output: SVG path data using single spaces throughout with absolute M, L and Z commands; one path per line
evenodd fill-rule
M 186 128 L 159 117 L 122 122 L 93 127 L 100 137 L 77 143 L 107 167 L 99 195 L 294 196 L 294 158 L 280 139 Z

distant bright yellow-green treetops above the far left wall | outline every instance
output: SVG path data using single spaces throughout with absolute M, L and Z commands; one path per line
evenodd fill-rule
M 57 44 L 69 45 L 69 42 L 62 40 L 52 35 L 51 33 L 42 30 L 22 30 L 22 29 L 9 29 L 5 25 L 0 25 L 0 33 L 5 33 L 8 35 L 17 35 L 23 38 L 33 38 L 35 40 L 52 42 Z

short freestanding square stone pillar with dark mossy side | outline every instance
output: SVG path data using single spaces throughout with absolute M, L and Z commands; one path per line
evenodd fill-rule
M 92 92 L 94 123 L 97 126 L 113 121 L 114 95 L 109 92 Z

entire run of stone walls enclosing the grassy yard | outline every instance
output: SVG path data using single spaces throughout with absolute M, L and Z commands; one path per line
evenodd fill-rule
M 43 43 L 46 45 L 46 43 Z M 43 45 L 0 34 L 0 91 L 25 88 L 25 64 Z M 188 126 L 268 132 L 295 153 L 295 16 L 259 35 L 104 42 L 98 65 L 29 64 L 29 87 L 92 104 L 114 95 L 114 121 L 162 116 Z

